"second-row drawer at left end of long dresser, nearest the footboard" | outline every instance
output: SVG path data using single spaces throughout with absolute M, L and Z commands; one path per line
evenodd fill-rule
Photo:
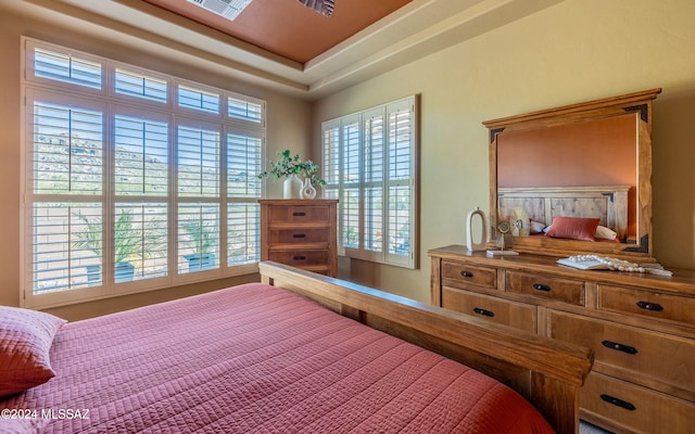
M 442 307 L 532 333 L 536 331 L 536 308 L 525 303 L 444 286 L 442 288 Z

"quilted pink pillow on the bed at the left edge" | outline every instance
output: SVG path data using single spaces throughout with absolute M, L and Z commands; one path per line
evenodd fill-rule
M 55 375 L 49 350 L 64 319 L 0 306 L 0 397 L 46 383 Z

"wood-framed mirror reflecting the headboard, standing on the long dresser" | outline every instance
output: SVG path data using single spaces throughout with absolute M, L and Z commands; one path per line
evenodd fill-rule
M 516 226 L 519 252 L 650 260 L 652 101 L 660 91 L 484 122 L 491 228 Z

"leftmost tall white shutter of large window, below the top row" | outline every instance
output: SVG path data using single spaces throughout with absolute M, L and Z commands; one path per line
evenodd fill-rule
M 63 95 L 27 92 L 28 227 L 30 286 L 38 294 L 100 284 L 88 281 L 88 265 L 101 266 L 103 231 L 91 233 L 96 252 L 76 245 L 83 216 L 103 214 L 104 110 L 99 103 L 71 105 Z

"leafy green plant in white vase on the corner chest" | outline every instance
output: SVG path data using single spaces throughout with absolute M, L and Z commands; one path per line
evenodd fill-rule
M 326 186 L 326 181 L 318 176 L 318 165 L 311 159 L 302 161 L 299 154 L 291 155 L 290 150 L 280 151 L 278 156 L 278 161 L 268 161 L 269 168 L 258 174 L 258 178 L 285 178 L 282 186 L 285 199 L 300 197 L 300 192 L 307 186 L 315 183 Z M 304 182 L 298 176 L 303 177 Z

